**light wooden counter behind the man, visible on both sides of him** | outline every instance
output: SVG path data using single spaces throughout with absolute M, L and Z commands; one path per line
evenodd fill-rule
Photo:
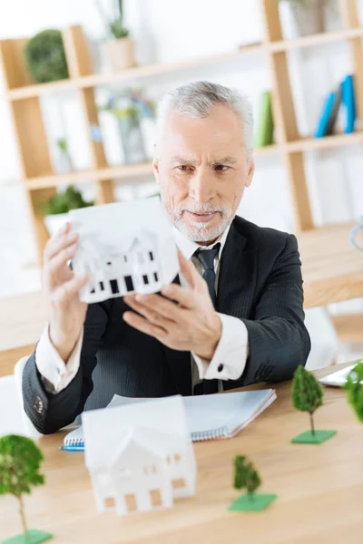
M 363 296 L 363 252 L 349 243 L 352 226 L 299 235 L 306 308 Z M 0 299 L 0 352 L 34 345 L 46 314 L 42 293 Z

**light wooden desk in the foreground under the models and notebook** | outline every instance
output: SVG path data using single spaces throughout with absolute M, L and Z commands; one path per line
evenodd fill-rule
M 30 526 L 54 532 L 54 544 L 361 544 L 363 425 L 345 392 L 326 389 L 316 424 L 337 429 L 337 436 L 319 446 L 290 444 L 308 429 L 309 418 L 292 409 L 289 389 L 279 385 L 278 400 L 234 439 L 195 444 L 197 494 L 171 510 L 129 518 L 99 514 L 83 453 L 58 450 L 64 433 L 43 437 L 46 486 L 25 499 Z M 279 494 L 269 510 L 227 511 L 239 494 L 231 486 L 236 453 L 256 463 L 261 491 Z M 1 537 L 20 529 L 15 499 L 0 499 L 0 520 Z

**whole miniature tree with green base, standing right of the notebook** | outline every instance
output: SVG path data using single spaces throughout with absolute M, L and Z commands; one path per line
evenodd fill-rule
M 313 414 L 323 404 L 323 391 L 314 376 L 304 366 L 299 365 L 295 371 L 291 391 L 292 404 L 300 412 L 309 412 L 310 431 L 303 432 L 291 442 L 320 443 L 333 436 L 336 431 L 316 431 Z

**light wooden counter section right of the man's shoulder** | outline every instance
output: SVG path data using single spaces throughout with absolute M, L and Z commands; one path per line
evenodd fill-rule
M 305 307 L 363 296 L 363 251 L 353 248 L 354 223 L 315 228 L 298 236 Z

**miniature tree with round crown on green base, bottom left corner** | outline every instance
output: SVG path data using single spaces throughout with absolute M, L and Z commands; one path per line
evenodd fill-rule
M 12 542 L 43 542 L 52 535 L 27 529 L 23 495 L 31 493 L 34 486 L 44 485 L 44 476 L 39 472 L 43 454 L 30 438 L 9 434 L 0 438 L 0 495 L 10 493 L 19 500 L 24 536 Z

